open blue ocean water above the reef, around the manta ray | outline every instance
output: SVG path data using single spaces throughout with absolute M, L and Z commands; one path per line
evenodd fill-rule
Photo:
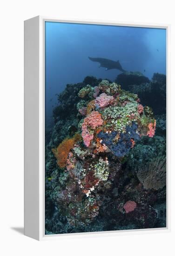
M 67 83 L 88 75 L 114 81 L 121 73 L 99 68 L 88 56 L 119 60 L 123 69 L 149 79 L 157 72 L 166 74 L 166 29 L 46 22 L 45 42 L 46 126 L 58 104 L 55 94 Z

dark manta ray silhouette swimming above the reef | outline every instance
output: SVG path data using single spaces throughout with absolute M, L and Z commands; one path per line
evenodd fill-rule
M 100 63 L 100 66 L 99 67 L 106 67 L 105 70 L 109 70 L 109 69 L 118 69 L 122 72 L 125 72 L 126 70 L 124 70 L 122 67 L 121 67 L 121 64 L 119 61 L 111 61 L 111 60 L 108 60 L 108 59 L 104 59 L 104 58 L 91 58 L 91 57 L 88 57 L 89 60 L 91 61 L 96 61 L 96 62 L 99 62 Z

